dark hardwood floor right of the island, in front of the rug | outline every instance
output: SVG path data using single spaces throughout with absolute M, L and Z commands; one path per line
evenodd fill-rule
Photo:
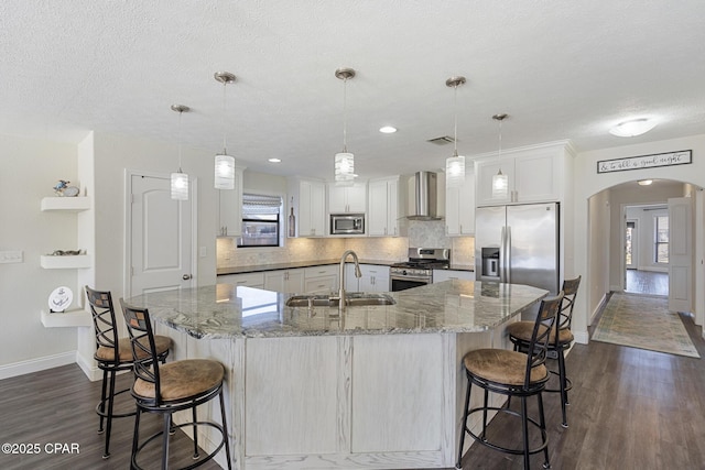
M 681 319 L 705 357 L 702 328 L 688 316 Z M 566 370 L 573 381 L 567 429 L 561 427 L 558 394 L 544 394 L 553 469 L 705 469 L 702 359 L 592 341 L 573 347 Z M 516 422 L 492 427 L 521 439 Z M 542 455 L 532 456 L 532 468 L 542 463 Z M 464 470 L 521 468 L 521 457 L 478 444 L 463 459 Z

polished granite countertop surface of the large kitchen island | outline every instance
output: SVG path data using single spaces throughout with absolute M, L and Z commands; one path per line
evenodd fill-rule
M 389 293 L 394 305 L 289 307 L 294 294 L 218 284 L 127 299 L 153 319 L 195 338 L 474 332 L 528 309 L 547 291 L 519 284 L 451 280 Z

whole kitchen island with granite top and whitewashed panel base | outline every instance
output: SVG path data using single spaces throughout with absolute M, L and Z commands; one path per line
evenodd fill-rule
M 149 308 L 171 358 L 225 365 L 234 469 L 452 468 L 464 354 L 509 348 L 506 326 L 547 292 L 453 280 L 386 295 L 395 304 L 344 313 L 232 284 L 127 303 Z M 207 413 L 219 416 L 217 403 Z M 225 452 L 216 461 L 225 468 Z

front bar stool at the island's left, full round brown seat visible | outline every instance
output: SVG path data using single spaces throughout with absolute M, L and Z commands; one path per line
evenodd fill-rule
M 228 469 L 231 469 L 230 446 L 228 445 L 228 428 L 226 420 L 223 381 L 224 365 L 209 359 L 184 359 L 160 365 L 156 361 L 156 341 L 152 331 L 152 324 L 147 308 L 132 308 L 120 299 L 124 320 L 130 335 L 130 343 L 134 356 L 134 383 L 132 396 L 137 401 L 134 417 L 134 434 L 132 437 L 131 469 L 141 469 L 138 464 L 140 451 L 152 440 L 162 437 L 162 469 L 169 468 L 169 438 L 173 429 L 193 426 L 194 460 L 198 455 L 198 426 L 208 426 L 220 433 L 220 439 L 215 450 L 200 461 L 184 469 L 193 469 L 213 459 L 225 446 Z M 196 415 L 197 406 L 219 397 L 221 424 L 215 422 L 199 422 Z M 183 409 L 192 411 L 193 420 L 174 425 L 172 414 Z M 142 413 L 158 413 L 164 418 L 161 431 L 149 436 L 140 444 L 140 417 Z M 215 438 L 215 436 L 214 436 Z

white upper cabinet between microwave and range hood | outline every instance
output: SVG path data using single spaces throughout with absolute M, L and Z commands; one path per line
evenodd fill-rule
M 401 214 L 404 198 L 400 192 L 399 176 L 371 179 L 368 184 L 369 210 L 367 227 L 370 237 L 403 236 Z

